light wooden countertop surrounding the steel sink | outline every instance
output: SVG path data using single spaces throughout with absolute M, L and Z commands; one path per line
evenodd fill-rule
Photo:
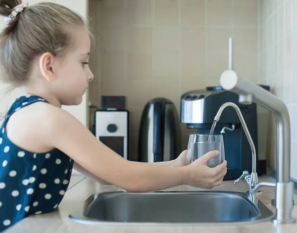
M 65 193 L 65 196 L 55 212 L 49 214 L 42 214 L 37 216 L 30 216 L 18 224 L 7 229 L 5 233 L 81 233 L 81 232 L 104 232 L 104 233 L 138 233 L 138 232 L 156 232 L 156 233 L 296 233 L 297 223 L 295 224 L 283 224 L 274 226 L 270 221 L 257 223 L 257 224 L 237 224 L 228 226 L 129 226 L 128 223 L 123 223 L 117 226 L 112 225 L 86 225 L 77 222 L 73 222 L 68 218 L 68 215 L 74 211 L 78 205 L 83 203 L 91 194 L 104 192 L 104 191 L 119 191 L 122 190 L 116 186 L 104 186 L 100 185 L 83 176 L 73 176 L 71 178 L 71 186 Z M 259 177 L 259 182 L 271 181 L 267 177 Z M 245 182 L 240 182 L 237 185 L 233 184 L 233 181 L 224 181 L 221 186 L 215 187 L 212 190 L 224 190 L 224 191 L 240 191 L 246 192 L 248 186 Z M 194 188 L 191 186 L 178 186 L 166 190 L 204 190 Z M 271 199 L 274 198 L 273 187 L 262 187 L 260 189 L 263 194 L 257 195 L 257 197 L 275 213 L 275 209 L 271 206 Z M 295 203 L 297 203 L 297 195 L 294 195 Z M 293 216 L 297 219 L 297 208 L 293 209 Z

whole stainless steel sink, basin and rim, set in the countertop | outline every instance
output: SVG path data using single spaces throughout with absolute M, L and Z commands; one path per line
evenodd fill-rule
M 255 223 L 273 218 L 255 196 L 227 191 L 103 192 L 69 217 L 81 223 Z

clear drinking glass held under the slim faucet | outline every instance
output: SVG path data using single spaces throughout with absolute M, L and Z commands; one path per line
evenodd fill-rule
M 225 160 L 224 140 L 222 135 L 191 134 L 189 137 L 187 158 L 191 162 L 209 151 L 218 150 L 219 154 L 207 162 L 213 168 Z

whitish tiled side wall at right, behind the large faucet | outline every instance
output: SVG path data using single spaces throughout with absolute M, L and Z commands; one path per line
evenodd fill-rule
M 291 177 L 297 179 L 297 0 L 260 0 L 260 79 L 288 106 Z M 276 129 L 270 119 L 270 165 L 275 167 Z

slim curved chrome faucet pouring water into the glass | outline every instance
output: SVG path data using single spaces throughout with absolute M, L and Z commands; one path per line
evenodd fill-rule
M 248 143 L 250 145 L 250 149 L 251 149 L 251 157 L 252 157 L 252 165 L 251 165 L 251 174 L 249 175 L 247 171 L 244 171 L 243 172 L 243 175 L 238 178 L 234 184 L 238 184 L 242 179 L 245 179 L 245 181 L 247 182 L 248 186 L 249 186 L 249 190 L 248 192 L 249 193 L 255 193 L 257 192 L 256 190 L 254 190 L 254 187 L 255 185 L 258 183 L 258 175 L 256 173 L 256 149 L 255 149 L 255 146 L 254 146 L 254 143 L 250 137 L 250 134 L 249 134 L 249 131 L 247 129 L 247 124 L 245 122 L 245 119 L 239 109 L 239 107 L 235 104 L 235 103 L 232 103 L 232 102 L 227 102 L 227 103 L 224 103 L 218 110 L 216 116 L 214 117 L 214 121 L 215 121 L 215 124 L 216 122 L 219 121 L 220 119 L 220 116 L 222 114 L 222 112 L 224 111 L 224 109 L 226 107 L 233 107 L 235 110 L 236 110 L 236 113 L 240 119 L 240 122 L 241 124 L 243 125 L 243 128 L 244 128 L 244 131 L 246 133 L 246 136 L 247 136 L 247 140 L 248 140 Z

